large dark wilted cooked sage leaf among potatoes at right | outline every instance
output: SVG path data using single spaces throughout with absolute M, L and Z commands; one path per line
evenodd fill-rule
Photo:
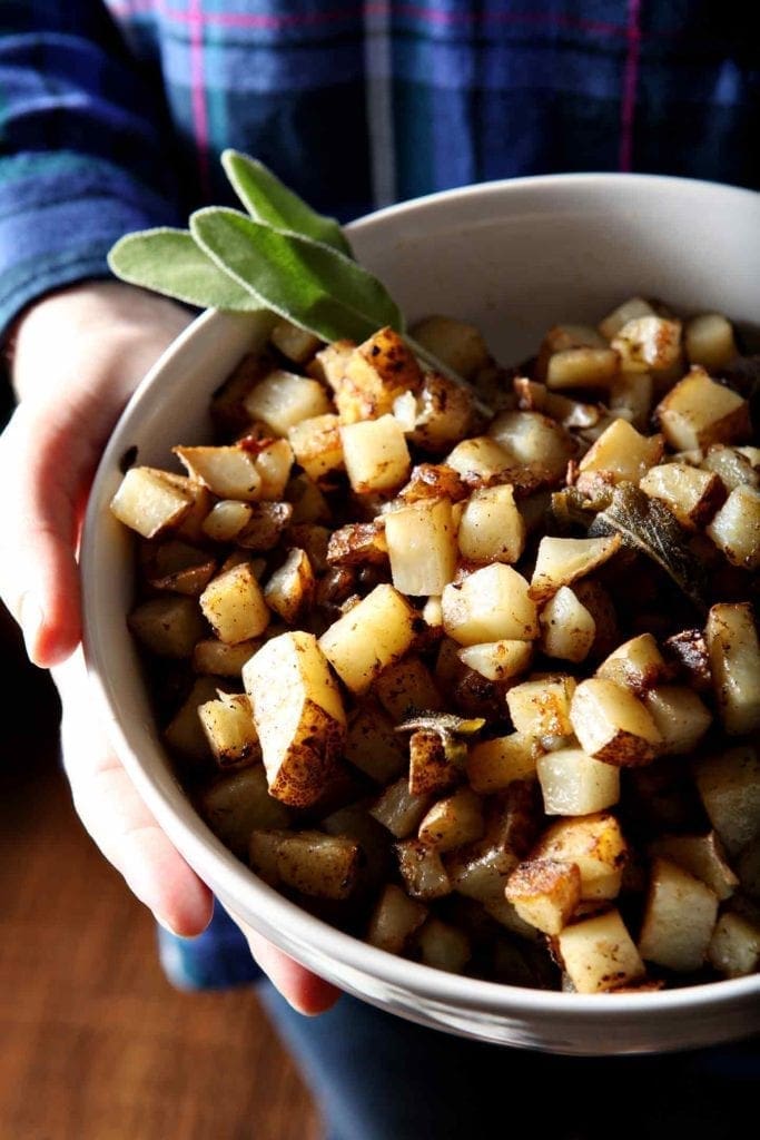
M 706 611 L 706 577 L 688 545 L 688 535 L 660 499 L 635 483 L 618 483 L 612 502 L 589 527 L 589 538 L 618 534 L 626 546 L 656 562 L 694 605 Z

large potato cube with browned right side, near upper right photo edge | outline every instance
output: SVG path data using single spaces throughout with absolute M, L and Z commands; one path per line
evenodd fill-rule
M 746 400 L 692 367 L 656 408 L 660 427 L 677 451 L 706 449 L 711 443 L 742 443 L 750 438 Z

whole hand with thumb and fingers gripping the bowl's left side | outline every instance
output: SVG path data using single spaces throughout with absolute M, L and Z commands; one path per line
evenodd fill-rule
M 16 339 L 19 405 L 0 438 L 0 479 L 14 489 L 0 531 L 0 596 L 27 653 L 50 668 L 63 706 L 64 763 L 77 813 L 106 858 L 177 934 L 201 934 L 212 896 L 141 801 L 92 725 L 81 638 L 76 546 L 87 495 L 124 404 L 189 323 L 171 301 L 115 282 L 79 285 L 34 306 Z M 255 933 L 254 955 L 303 1012 L 336 992 Z

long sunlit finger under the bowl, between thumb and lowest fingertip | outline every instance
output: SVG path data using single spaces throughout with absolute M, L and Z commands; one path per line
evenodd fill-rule
M 213 898 L 138 796 L 92 723 L 81 653 L 54 670 L 63 703 L 62 744 L 74 806 L 105 857 L 162 926 L 193 937 Z

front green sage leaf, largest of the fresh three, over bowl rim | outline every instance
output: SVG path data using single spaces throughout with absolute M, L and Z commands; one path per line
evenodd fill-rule
M 324 341 L 363 341 L 384 325 L 403 331 L 401 310 L 385 286 L 320 242 L 221 206 L 194 213 L 190 233 L 240 287 Z

